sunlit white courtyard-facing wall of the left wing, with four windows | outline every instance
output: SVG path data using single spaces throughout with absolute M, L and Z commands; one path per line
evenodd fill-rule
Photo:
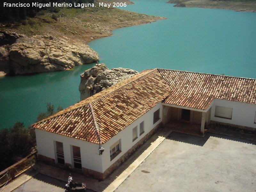
M 153 114 L 154 112 L 160 108 L 160 119 L 153 124 Z M 154 108 L 149 110 L 146 114 L 135 120 L 132 124 L 127 126 L 124 130 L 119 132 L 117 135 L 115 135 L 113 138 L 108 140 L 105 144 L 102 145 L 102 147 L 105 148 L 105 151 L 102 154 L 102 168 L 103 172 L 108 169 L 110 165 L 116 162 L 122 155 L 124 155 L 132 146 L 134 146 L 140 139 L 142 139 L 148 132 L 150 132 L 154 127 L 156 127 L 161 121 L 162 121 L 162 103 L 158 103 Z M 144 121 L 144 133 L 140 136 L 140 123 Z M 132 129 L 138 126 L 137 129 L 137 135 L 138 138 L 132 142 Z M 116 141 L 121 139 L 121 153 L 118 154 L 112 161 L 110 161 L 110 147 L 113 145 Z

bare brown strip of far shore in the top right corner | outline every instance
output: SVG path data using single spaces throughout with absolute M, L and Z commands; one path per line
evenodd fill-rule
M 212 1 L 212 0 L 169 0 L 174 7 L 197 7 L 206 9 L 228 9 L 237 12 L 256 12 L 256 1 Z

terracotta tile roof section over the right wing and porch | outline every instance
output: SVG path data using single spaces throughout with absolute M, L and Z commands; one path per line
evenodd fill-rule
M 205 110 L 214 98 L 256 104 L 256 79 L 158 69 L 172 89 L 164 103 Z

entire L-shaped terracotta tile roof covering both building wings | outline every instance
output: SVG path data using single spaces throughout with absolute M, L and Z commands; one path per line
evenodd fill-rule
M 140 72 L 32 126 L 99 144 L 159 102 L 202 109 L 214 98 L 256 104 L 256 79 L 187 71 Z

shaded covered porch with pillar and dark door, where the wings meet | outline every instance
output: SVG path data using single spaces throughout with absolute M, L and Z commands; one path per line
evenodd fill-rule
M 168 104 L 163 105 L 162 123 L 176 132 L 204 136 L 210 118 L 211 106 L 203 111 Z

